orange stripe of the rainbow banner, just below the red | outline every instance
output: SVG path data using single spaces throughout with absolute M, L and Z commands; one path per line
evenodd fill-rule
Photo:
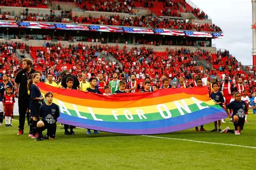
M 41 89 L 43 94 L 46 91 Z M 137 101 L 99 101 L 99 100 L 88 100 L 85 98 L 76 98 L 70 96 L 64 96 L 57 93 L 53 93 L 53 97 L 67 103 L 77 104 L 77 105 L 86 105 L 86 107 L 92 108 L 133 108 L 133 107 L 146 107 L 149 105 L 156 105 L 156 104 L 164 104 L 167 102 L 173 102 L 177 100 L 181 100 L 184 98 L 190 98 L 192 95 L 187 95 L 184 93 L 179 94 L 172 94 L 167 96 L 160 96 L 154 98 L 142 98 Z M 200 101 L 206 102 L 209 101 L 209 96 L 207 95 L 193 95 L 193 97 L 197 98 Z M 113 103 L 114 102 L 114 103 Z

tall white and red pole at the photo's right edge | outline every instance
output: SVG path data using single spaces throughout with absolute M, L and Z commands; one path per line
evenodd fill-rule
M 256 75 L 256 0 L 252 0 L 252 61 Z

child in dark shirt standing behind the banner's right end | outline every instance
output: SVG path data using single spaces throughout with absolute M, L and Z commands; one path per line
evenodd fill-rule
M 224 97 L 223 95 L 221 94 L 221 92 L 219 91 L 219 84 L 214 82 L 212 83 L 212 88 L 213 88 L 213 92 L 211 94 L 211 98 L 212 100 L 215 102 L 215 104 L 219 104 L 220 107 L 223 107 L 223 103 L 225 102 L 224 101 Z M 219 130 L 217 129 L 217 122 L 219 123 Z M 211 132 L 220 132 L 221 131 L 221 120 L 219 121 L 215 121 L 214 122 L 214 129 L 211 130 Z

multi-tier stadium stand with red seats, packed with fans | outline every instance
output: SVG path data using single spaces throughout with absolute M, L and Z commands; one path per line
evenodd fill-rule
M 60 5 L 55 11 L 52 8 L 48 9 L 43 1 L 20 1 L 12 5 L 16 6 L 15 9 L 4 9 L 4 6 L 8 6 L 11 1 L 1 1 L 3 8 L 0 19 L 16 20 L 18 22 L 69 22 L 69 20 L 63 20 L 63 18 L 66 18 L 70 19 L 71 24 L 222 33 L 220 27 L 211 23 L 204 11 L 193 8 L 185 0 L 119 0 L 118 2 L 113 0 L 95 2 L 59 0 L 58 2 Z M 62 2 L 73 3 L 77 5 L 77 8 L 83 9 L 83 12 L 77 12 L 82 11 L 80 9 L 62 9 L 60 8 Z M 51 4 L 51 1 L 49 3 Z M 21 7 L 29 9 L 26 10 Z M 37 13 L 31 8 L 45 9 Z M 149 11 L 133 15 L 137 9 Z M 17 13 L 19 13 L 18 17 Z M 191 14 L 192 19 L 186 18 L 184 13 Z M 166 75 L 171 80 L 177 80 L 179 76 L 183 76 L 189 84 L 193 81 L 194 75 L 217 76 L 223 79 L 225 74 L 234 80 L 242 77 L 248 80 L 248 85 L 254 83 L 254 77 L 248 74 L 250 70 L 247 72 L 244 66 L 228 51 L 210 52 L 205 50 L 205 47 L 212 47 L 211 38 L 189 37 L 187 35 L 180 37 L 166 36 L 165 34 L 63 31 L 57 29 L 50 31 L 19 29 L 19 32 L 15 29 L 9 29 L 8 32 L 9 38 L 3 34 L 3 40 L 8 40 L 8 42 L 2 42 L 1 45 L 1 71 L 11 75 L 11 77 L 14 77 L 17 71 L 21 69 L 21 59 L 16 56 L 16 49 L 22 49 L 27 51 L 33 59 L 35 63 L 33 68 L 44 74 L 52 73 L 55 75 L 57 82 L 61 78 L 62 71 L 68 69 L 77 76 L 80 76 L 82 71 L 95 75 L 103 72 L 106 81 L 110 81 L 114 72 L 120 72 L 122 73 L 120 78 L 136 73 L 138 79 L 143 79 L 149 75 L 153 82 L 157 82 L 160 77 Z M 25 40 L 28 45 L 22 42 L 10 42 L 10 39 L 14 40 L 12 38 Z M 37 45 L 36 43 L 29 43 L 29 40 L 47 40 L 48 42 L 45 42 L 42 46 L 42 43 Z M 70 41 L 70 45 L 66 45 L 66 41 Z M 79 42 L 77 43 L 77 41 Z M 109 45 L 110 42 L 122 43 L 123 45 L 119 48 L 117 45 Z M 146 47 L 135 46 L 140 44 Z M 130 47 L 127 48 L 126 45 Z M 163 45 L 177 46 L 177 48 L 170 47 L 164 50 Z M 190 47 L 197 48 L 197 50 L 191 51 Z M 110 58 L 116 60 L 106 61 L 104 56 L 110 56 Z M 198 62 L 200 60 L 204 60 L 211 67 L 203 67 Z

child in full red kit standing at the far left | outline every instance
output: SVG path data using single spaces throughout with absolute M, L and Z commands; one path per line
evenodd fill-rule
M 11 94 L 11 87 L 6 87 L 6 94 L 3 98 L 3 108 L 4 108 L 4 115 L 5 115 L 5 126 L 12 126 L 11 125 L 11 118 L 14 114 L 14 95 Z

